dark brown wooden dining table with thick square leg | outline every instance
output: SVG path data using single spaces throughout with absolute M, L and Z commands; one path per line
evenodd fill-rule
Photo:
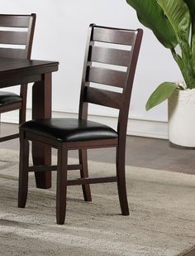
M 33 83 L 32 118 L 51 118 L 52 73 L 58 68 L 58 61 L 0 58 L 0 88 Z M 50 147 L 32 143 L 31 153 L 34 165 L 50 165 Z M 50 188 L 50 171 L 36 172 L 35 177 L 36 187 Z

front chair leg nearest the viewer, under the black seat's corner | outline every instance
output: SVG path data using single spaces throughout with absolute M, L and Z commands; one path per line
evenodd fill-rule
M 56 191 L 56 219 L 57 224 L 64 224 L 66 213 L 68 151 L 65 144 L 58 148 L 57 191 Z

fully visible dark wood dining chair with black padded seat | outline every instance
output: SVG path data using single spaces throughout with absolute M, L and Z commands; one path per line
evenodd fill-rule
M 64 224 L 67 186 L 82 185 L 84 200 L 90 201 L 89 184 L 117 182 L 121 214 L 129 215 L 126 198 L 125 152 L 126 126 L 131 90 L 140 51 L 142 30 L 126 30 L 90 25 L 83 65 L 78 119 L 50 118 L 31 120 L 20 126 L 20 173 L 18 207 L 25 207 L 29 171 L 57 170 L 56 218 Z M 109 44 L 112 46 L 109 46 Z M 114 48 L 113 46 L 117 46 Z M 123 46 L 122 50 L 119 49 Z M 124 47 L 128 49 L 124 49 Z M 113 65 L 115 69 L 98 67 L 97 63 Z M 116 70 L 116 66 L 123 70 Z M 119 68 L 120 69 L 120 68 Z M 98 89 L 94 83 L 107 89 Z M 122 92 L 112 91 L 113 87 Z M 110 88 L 110 89 L 108 89 Z M 119 109 L 117 131 L 102 123 L 88 120 L 88 103 Z M 57 166 L 29 167 L 29 141 L 45 143 L 58 150 Z M 87 149 L 117 147 L 117 175 L 88 177 Z M 78 149 L 78 165 L 68 165 L 68 151 Z M 80 178 L 67 180 L 68 170 L 80 170 Z

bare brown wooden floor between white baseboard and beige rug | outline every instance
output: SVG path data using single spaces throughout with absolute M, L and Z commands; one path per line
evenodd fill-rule
M 16 130 L 17 125 L 5 123 L 1 132 L 7 134 L 14 133 Z M 0 147 L 18 151 L 18 139 L 2 142 Z M 77 152 L 70 152 L 69 154 L 69 157 L 77 156 Z M 88 152 L 88 158 L 97 162 L 114 162 L 115 150 L 93 149 L 93 151 Z M 126 165 L 195 174 L 195 150 L 170 147 L 169 142 L 163 139 L 127 136 Z M 194 255 L 195 249 L 185 255 L 183 254 L 183 256 Z

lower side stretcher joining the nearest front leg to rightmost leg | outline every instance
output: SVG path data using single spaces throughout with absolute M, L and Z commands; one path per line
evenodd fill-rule
M 95 184 L 95 183 L 107 183 L 117 182 L 117 176 L 110 177 L 98 177 L 98 178 L 81 178 L 77 180 L 67 181 L 67 186 L 84 185 L 84 184 Z

